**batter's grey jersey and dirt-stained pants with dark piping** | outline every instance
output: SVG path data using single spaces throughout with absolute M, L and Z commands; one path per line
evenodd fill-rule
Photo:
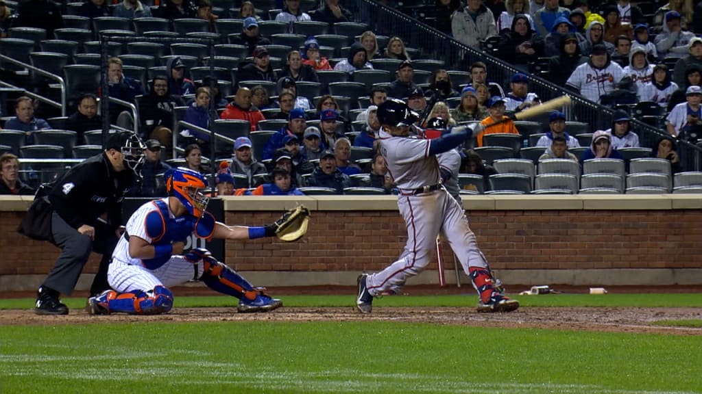
M 448 241 L 465 273 L 468 274 L 468 266 L 486 267 L 463 207 L 445 189 L 412 193 L 423 186 L 439 184 L 439 163 L 429 154 L 431 140 L 393 137 L 382 128 L 379 136 L 388 173 L 400 191 L 397 208 L 407 226 L 407 243 L 397 261 L 366 277 L 371 295 L 397 290 L 407 278 L 423 271 L 434 257 L 439 233 Z

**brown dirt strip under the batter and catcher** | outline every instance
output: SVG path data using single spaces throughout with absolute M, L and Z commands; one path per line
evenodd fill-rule
M 702 335 L 702 328 L 661 327 L 657 320 L 702 319 L 702 308 L 519 308 L 512 313 L 477 313 L 474 308 L 376 307 L 370 315 L 354 308 L 287 308 L 270 313 L 237 313 L 236 308 L 174 308 L 166 315 L 36 315 L 32 310 L 0 311 L 0 325 L 65 325 L 109 322 L 317 322 L 395 321 L 470 327 L 529 328 L 597 332 Z

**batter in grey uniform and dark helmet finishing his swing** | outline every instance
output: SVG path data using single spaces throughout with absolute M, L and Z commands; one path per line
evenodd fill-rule
M 402 287 L 423 271 L 432 259 L 439 233 L 461 261 L 479 294 L 478 311 L 508 312 L 519 302 L 498 292 L 489 266 L 468 226 L 463 207 L 441 182 L 437 154 L 458 147 L 472 137 L 470 128 L 455 130 L 433 140 L 409 138 L 416 116 L 402 100 L 388 99 L 378 107 L 380 153 L 399 189 L 397 206 L 407 226 L 407 243 L 399 259 L 383 271 L 358 278 L 356 306 L 371 313 L 373 297 Z

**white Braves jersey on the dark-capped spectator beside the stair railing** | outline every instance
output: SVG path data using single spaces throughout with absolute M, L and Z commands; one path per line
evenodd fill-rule
M 604 69 L 595 69 L 587 62 L 575 69 L 566 84 L 578 90 L 586 99 L 600 102 L 600 96 L 613 92 L 614 84 L 621 81 L 623 76 L 621 66 L 615 62 L 609 61 Z

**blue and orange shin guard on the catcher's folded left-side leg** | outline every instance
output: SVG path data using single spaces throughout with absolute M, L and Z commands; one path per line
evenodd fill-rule
M 173 308 L 173 293 L 164 286 L 159 285 L 148 292 L 134 290 L 126 293 L 113 293 L 107 297 L 107 308 L 110 312 L 159 315 Z

